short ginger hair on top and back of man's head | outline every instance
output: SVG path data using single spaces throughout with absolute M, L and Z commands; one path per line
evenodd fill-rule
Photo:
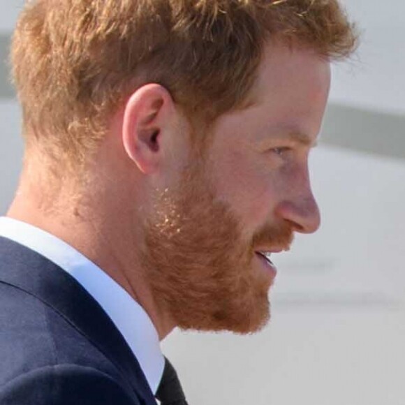
M 11 50 L 26 142 L 83 162 L 147 82 L 213 120 L 243 103 L 271 38 L 330 59 L 356 43 L 337 0 L 28 1 Z

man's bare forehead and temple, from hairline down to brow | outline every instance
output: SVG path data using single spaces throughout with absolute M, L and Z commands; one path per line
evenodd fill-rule
M 219 117 L 216 142 L 253 145 L 291 133 L 316 142 L 330 87 L 330 64 L 313 50 L 268 43 L 244 108 Z

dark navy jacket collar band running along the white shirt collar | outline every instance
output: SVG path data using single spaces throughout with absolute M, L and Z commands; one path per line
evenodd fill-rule
M 0 281 L 52 307 L 121 370 L 145 404 L 156 404 L 131 348 L 78 281 L 39 253 L 4 237 L 0 237 L 0 258 Z

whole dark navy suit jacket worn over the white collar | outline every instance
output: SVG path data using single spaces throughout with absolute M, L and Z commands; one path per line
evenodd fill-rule
M 96 300 L 50 260 L 0 237 L 0 405 L 90 404 L 156 401 Z

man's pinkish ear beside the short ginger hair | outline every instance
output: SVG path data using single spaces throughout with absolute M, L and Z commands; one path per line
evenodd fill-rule
M 126 102 L 122 141 L 141 172 L 155 172 L 161 165 L 163 142 L 172 131 L 174 115 L 172 97 L 160 84 L 145 84 Z

